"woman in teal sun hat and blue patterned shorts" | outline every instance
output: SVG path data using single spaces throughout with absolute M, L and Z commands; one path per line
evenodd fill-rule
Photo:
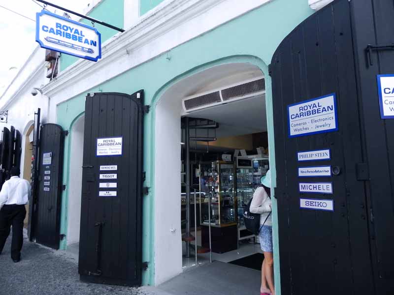
M 274 259 L 272 249 L 272 217 L 271 217 L 271 171 L 260 179 L 259 186 L 250 204 L 250 212 L 260 214 L 260 246 L 264 253 L 262 265 L 261 295 L 275 295 L 274 285 Z

